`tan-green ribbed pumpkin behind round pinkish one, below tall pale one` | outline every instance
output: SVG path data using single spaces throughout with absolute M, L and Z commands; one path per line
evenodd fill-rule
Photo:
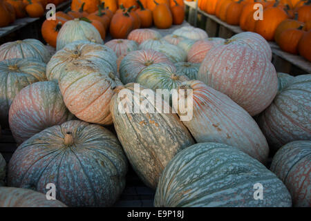
M 59 80 L 62 69 L 70 64 L 94 64 L 102 73 L 117 73 L 117 57 L 107 46 L 89 41 L 75 41 L 67 44 L 51 57 L 46 66 L 46 77 Z

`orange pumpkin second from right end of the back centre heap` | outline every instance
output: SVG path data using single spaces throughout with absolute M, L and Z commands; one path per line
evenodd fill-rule
M 149 1 L 148 1 L 149 2 Z M 156 8 L 152 11 L 153 22 L 157 28 L 170 28 L 173 23 L 171 10 L 167 3 L 156 3 Z

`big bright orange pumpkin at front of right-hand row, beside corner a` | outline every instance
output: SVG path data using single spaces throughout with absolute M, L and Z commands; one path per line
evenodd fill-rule
M 285 19 L 288 19 L 288 14 L 276 3 L 273 7 L 263 10 L 263 20 L 256 21 L 255 32 L 267 41 L 272 41 L 276 28 Z

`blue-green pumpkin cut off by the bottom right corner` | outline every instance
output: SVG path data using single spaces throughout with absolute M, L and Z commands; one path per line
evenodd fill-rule
M 292 204 L 311 206 L 311 141 L 286 144 L 274 155 L 271 171 L 288 187 Z

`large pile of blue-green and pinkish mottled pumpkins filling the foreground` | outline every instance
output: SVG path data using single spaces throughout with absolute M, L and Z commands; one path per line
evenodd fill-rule
M 129 163 L 155 206 L 311 206 L 311 75 L 276 73 L 261 35 L 145 28 L 103 45 L 74 22 L 52 57 L 35 39 L 0 46 L 0 122 L 19 144 L 6 178 L 0 155 L 0 206 L 112 206 Z

